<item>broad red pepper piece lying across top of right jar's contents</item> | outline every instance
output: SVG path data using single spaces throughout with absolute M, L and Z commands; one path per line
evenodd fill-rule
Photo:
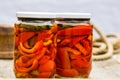
M 92 27 L 91 26 L 78 26 L 74 28 L 66 28 L 64 30 L 60 30 L 58 32 L 58 35 L 63 36 L 77 36 L 77 35 L 89 35 L 92 33 Z

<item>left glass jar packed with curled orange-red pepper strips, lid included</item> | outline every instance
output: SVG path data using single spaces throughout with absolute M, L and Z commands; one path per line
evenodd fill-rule
M 49 13 L 49 15 L 52 15 Z M 48 13 L 18 12 L 14 26 L 14 72 L 17 78 L 50 78 L 55 73 L 55 27 Z

